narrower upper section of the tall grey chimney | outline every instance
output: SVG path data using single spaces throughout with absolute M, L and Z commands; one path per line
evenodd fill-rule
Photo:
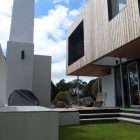
M 33 43 L 35 0 L 14 0 L 10 41 Z

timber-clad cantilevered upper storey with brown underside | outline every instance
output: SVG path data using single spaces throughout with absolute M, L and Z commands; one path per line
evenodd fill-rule
M 68 41 L 83 21 L 84 56 L 68 66 Z M 67 34 L 67 74 L 101 76 L 108 67 L 93 65 L 104 57 L 140 58 L 140 13 L 138 0 L 109 21 L 107 0 L 89 0 Z

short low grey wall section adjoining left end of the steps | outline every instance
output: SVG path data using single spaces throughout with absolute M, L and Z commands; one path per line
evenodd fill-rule
M 59 125 L 78 125 L 79 124 L 79 112 L 59 112 Z

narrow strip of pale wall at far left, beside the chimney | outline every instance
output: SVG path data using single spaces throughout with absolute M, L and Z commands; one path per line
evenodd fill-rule
M 6 104 L 6 60 L 0 46 L 0 106 Z

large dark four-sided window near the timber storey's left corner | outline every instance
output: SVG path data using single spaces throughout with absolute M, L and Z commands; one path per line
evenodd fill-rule
M 68 38 L 68 65 L 73 64 L 84 56 L 83 21 Z

